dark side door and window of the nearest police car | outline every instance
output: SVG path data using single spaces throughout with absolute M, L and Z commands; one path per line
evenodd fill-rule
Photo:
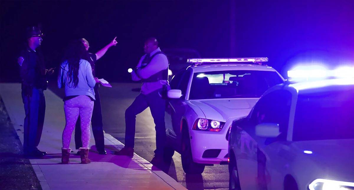
M 273 164 L 269 164 L 269 154 L 265 149 L 286 140 L 290 112 L 290 106 L 286 105 L 290 97 L 290 93 L 285 90 L 275 90 L 261 97 L 251 115 L 238 126 L 241 131 L 236 142 L 238 146 L 235 157 L 241 189 L 270 189 L 270 166 Z M 279 124 L 280 135 L 275 138 L 256 136 L 256 125 L 262 123 Z

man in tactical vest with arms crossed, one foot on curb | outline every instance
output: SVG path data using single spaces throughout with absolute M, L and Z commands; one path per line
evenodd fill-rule
M 125 147 L 116 155 L 133 156 L 135 140 L 135 118 L 136 115 L 150 107 L 154 118 L 156 130 L 156 150 L 151 163 L 156 165 L 162 162 L 165 146 L 165 104 L 163 99 L 168 82 L 169 61 L 161 52 L 158 41 L 150 37 L 145 41 L 144 52 L 137 67 L 131 72 L 133 81 L 141 81 L 140 94 L 125 111 Z

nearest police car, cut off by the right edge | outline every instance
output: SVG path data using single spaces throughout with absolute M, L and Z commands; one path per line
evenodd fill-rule
M 354 189 L 353 97 L 353 78 L 267 90 L 230 128 L 230 189 Z

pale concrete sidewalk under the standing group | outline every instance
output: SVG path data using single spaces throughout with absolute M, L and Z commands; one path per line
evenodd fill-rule
M 24 108 L 21 84 L 0 83 L 0 95 L 13 126 L 23 142 Z M 124 145 L 105 133 L 108 154 L 97 154 L 91 134 L 91 164 L 79 164 L 80 157 L 70 155 L 70 164 L 61 162 L 61 136 L 65 125 L 63 101 L 50 90 L 45 91 L 46 117 L 38 148 L 48 155 L 30 159 L 42 189 L 185 189 L 173 178 L 152 166 L 137 154 L 133 159 L 113 155 Z M 70 148 L 75 151 L 72 137 Z

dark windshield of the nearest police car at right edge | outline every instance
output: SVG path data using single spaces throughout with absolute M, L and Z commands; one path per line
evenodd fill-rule
M 354 88 L 299 94 L 293 141 L 354 138 Z

